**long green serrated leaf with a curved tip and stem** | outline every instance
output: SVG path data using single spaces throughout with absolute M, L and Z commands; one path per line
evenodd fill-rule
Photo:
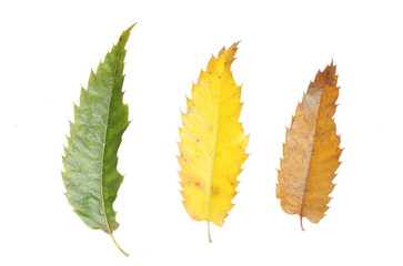
M 74 123 L 63 157 L 66 196 L 80 218 L 93 229 L 109 234 L 119 227 L 113 202 L 123 176 L 118 172 L 118 149 L 129 125 L 123 104 L 125 43 L 134 25 L 123 31 L 111 52 L 91 71 L 88 90 L 81 88 L 80 106 L 74 105 Z

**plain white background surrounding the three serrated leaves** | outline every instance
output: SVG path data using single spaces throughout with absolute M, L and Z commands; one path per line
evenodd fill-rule
M 400 1 L 1 1 L 0 265 L 402 265 L 403 16 Z M 63 144 L 91 69 L 132 23 L 123 86 L 131 125 L 118 168 L 118 243 L 63 192 Z M 241 121 L 252 155 L 222 228 L 185 213 L 180 110 L 200 70 L 240 41 Z M 285 126 L 334 60 L 345 147 L 326 217 L 275 198 Z

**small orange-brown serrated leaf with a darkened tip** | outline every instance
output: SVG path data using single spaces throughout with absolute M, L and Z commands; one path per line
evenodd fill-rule
M 288 214 L 319 223 L 328 211 L 329 194 L 342 150 L 333 120 L 339 96 L 336 66 L 318 72 L 286 130 L 276 197 Z

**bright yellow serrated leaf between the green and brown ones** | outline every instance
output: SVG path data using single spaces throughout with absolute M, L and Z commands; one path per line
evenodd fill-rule
M 218 58 L 211 58 L 206 71 L 201 71 L 192 99 L 187 99 L 183 129 L 179 129 L 183 206 L 192 219 L 208 222 L 210 242 L 210 222 L 223 226 L 248 157 L 249 136 L 238 122 L 241 86 L 230 71 L 236 44 L 222 49 Z

